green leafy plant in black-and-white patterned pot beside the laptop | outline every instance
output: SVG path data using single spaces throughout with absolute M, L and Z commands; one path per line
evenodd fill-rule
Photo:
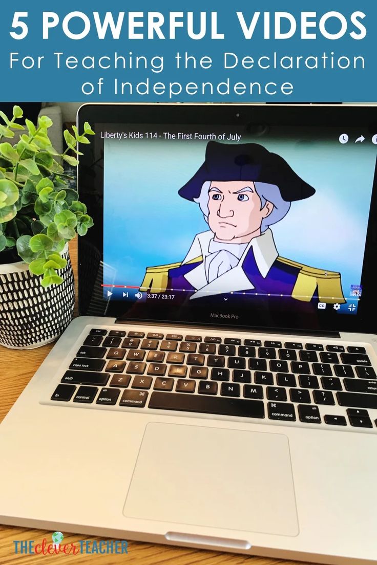
M 31 349 L 54 341 L 73 317 L 75 283 L 68 242 L 93 225 L 63 162 L 76 166 L 77 142 L 89 144 L 88 123 L 64 131 L 67 149 L 51 145 L 47 116 L 37 124 L 14 106 L 0 112 L 0 344 Z M 24 130 L 14 146 L 7 141 Z

